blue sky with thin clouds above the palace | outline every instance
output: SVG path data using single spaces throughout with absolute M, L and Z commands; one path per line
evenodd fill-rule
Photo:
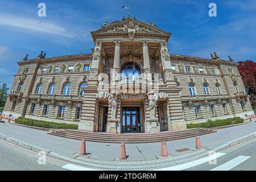
M 38 16 L 38 4 L 46 3 L 46 17 Z M 256 60 L 256 0 L 245 1 L 24 1 L 0 0 L 0 84 L 9 87 L 16 62 L 40 51 L 47 57 L 90 53 L 90 31 L 105 21 L 121 20 L 131 4 L 131 15 L 171 32 L 170 53 L 236 61 Z M 217 5 L 217 17 L 209 17 L 209 3 Z

